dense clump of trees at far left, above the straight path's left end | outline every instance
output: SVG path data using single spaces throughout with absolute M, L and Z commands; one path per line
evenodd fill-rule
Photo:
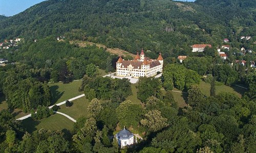
M 15 80 L 10 82 L 10 79 Z M 51 92 L 47 83 L 41 83 L 32 78 L 21 80 L 8 75 L 4 85 L 9 107 L 20 108 L 27 112 L 36 109 L 38 105 L 50 105 Z

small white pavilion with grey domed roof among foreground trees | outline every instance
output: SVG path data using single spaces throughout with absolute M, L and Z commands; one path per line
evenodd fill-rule
M 124 147 L 127 145 L 134 144 L 134 135 L 129 130 L 126 130 L 125 127 L 122 131 L 118 132 L 116 135 L 116 140 L 119 146 Z

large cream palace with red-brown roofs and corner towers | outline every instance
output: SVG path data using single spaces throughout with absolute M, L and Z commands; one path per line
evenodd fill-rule
M 119 77 L 152 77 L 163 71 L 163 58 L 161 53 L 156 60 L 145 57 L 143 49 L 137 52 L 134 60 L 123 60 L 119 57 L 116 62 L 116 75 Z

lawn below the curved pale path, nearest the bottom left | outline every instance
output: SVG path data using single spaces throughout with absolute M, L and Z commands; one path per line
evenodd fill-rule
M 43 118 L 38 121 L 34 121 L 31 117 L 22 121 L 23 126 L 29 133 L 41 128 L 48 129 L 51 131 L 67 129 L 73 130 L 74 122 L 60 114 L 51 115 L 48 118 Z

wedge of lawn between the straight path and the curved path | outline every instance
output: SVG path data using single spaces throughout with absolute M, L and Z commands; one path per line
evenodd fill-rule
M 87 116 L 87 107 L 89 105 L 86 97 L 81 97 L 72 101 L 73 105 L 69 108 L 66 105 L 61 105 L 58 112 L 65 113 L 74 119 L 78 119 L 80 116 Z

